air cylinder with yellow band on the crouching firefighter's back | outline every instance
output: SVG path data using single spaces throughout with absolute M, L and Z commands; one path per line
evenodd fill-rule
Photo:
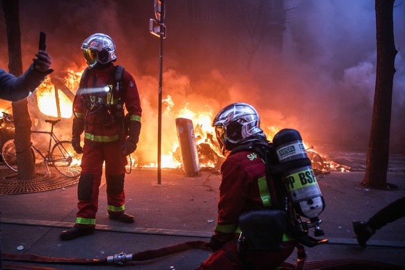
M 273 145 L 278 161 L 285 164 L 285 186 L 297 214 L 309 219 L 319 216 L 325 202 L 301 134 L 295 129 L 282 129 L 274 136 Z

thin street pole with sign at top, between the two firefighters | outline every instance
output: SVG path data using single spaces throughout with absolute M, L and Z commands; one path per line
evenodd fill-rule
M 160 39 L 159 45 L 159 106 L 157 119 L 157 184 L 161 184 L 161 100 L 163 85 L 163 40 L 166 38 L 165 0 L 154 0 L 154 15 L 156 20 L 150 19 L 149 31 Z

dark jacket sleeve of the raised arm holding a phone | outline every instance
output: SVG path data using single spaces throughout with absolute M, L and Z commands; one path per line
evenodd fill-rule
M 24 100 L 35 91 L 46 76 L 46 73 L 35 70 L 33 65 L 19 77 L 0 69 L 0 98 L 11 102 Z

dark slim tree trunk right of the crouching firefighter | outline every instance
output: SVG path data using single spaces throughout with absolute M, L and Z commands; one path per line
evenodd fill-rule
M 367 151 L 365 177 L 361 184 L 375 189 L 387 188 L 392 84 L 395 74 L 394 22 L 395 0 L 376 0 L 377 67 L 372 129 Z

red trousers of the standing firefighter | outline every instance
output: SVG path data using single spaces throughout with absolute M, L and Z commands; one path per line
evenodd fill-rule
M 121 156 L 120 146 L 119 141 L 116 143 L 106 143 L 106 145 L 97 145 L 97 147 L 84 145 L 79 183 L 83 182 L 86 184 L 79 184 L 78 186 L 79 202 L 77 203 L 77 207 L 79 211 L 77 212 L 77 225 L 95 225 L 95 215 L 98 209 L 98 196 L 104 161 L 106 175 L 120 175 L 120 177 L 118 177 L 120 179 L 120 181 L 118 181 L 120 182 L 118 188 L 113 189 L 112 194 L 107 192 L 108 209 L 119 210 L 118 212 L 124 211 L 125 192 L 123 189 L 123 176 L 125 175 L 127 159 Z M 90 178 L 89 175 L 92 176 L 92 181 L 88 180 Z M 87 179 L 87 181 L 82 179 Z M 112 181 L 110 184 L 113 186 L 116 184 L 116 181 Z M 86 191 L 81 190 L 84 189 L 84 187 L 87 187 Z

